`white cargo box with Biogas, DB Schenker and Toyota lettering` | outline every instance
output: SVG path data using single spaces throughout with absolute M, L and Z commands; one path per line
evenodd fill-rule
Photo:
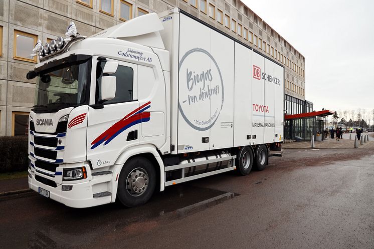
M 174 153 L 281 142 L 284 68 L 199 20 L 160 15 Z

